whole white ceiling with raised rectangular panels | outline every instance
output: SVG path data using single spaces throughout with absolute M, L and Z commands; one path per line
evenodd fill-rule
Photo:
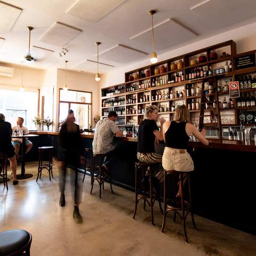
M 100 73 L 149 59 L 140 52 L 152 51 L 152 9 L 158 54 L 256 20 L 255 0 L 1 0 L 0 61 L 21 63 L 27 26 L 34 27 L 36 61 L 25 64 L 32 67 L 65 68 L 69 60 L 70 69 L 94 72 L 97 65 L 87 60 L 97 60 L 97 41 L 99 61 L 115 66 L 100 65 Z M 69 52 L 60 57 L 64 46 Z

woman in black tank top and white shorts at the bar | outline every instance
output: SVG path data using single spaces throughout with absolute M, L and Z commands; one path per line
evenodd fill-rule
M 189 123 L 190 114 L 186 106 L 179 106 L 175 110 L 175 121 L 165 122 L 163 137 L 165 148 L 163 154 L 163 167 L 165 170 L 181 172 L 194 171 L 193 159 L 187 152 L 189 137 L 193 134 L 204 145 L 209 145 L 205 139 L 205 130 L 198 129 Z M 177 196 L 181 195 L 181 186 Z

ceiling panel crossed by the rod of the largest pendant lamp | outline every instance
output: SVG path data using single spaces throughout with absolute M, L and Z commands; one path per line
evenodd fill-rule
M 154 27 L 155 51 L 164 50 L 170 46 L 188 41 L 196 37 L 193 31 L 183 27 L 177 21 L 168 19 Z M 130 38 L 141 45 L 151 44 L 152 30 L 148 29 Z

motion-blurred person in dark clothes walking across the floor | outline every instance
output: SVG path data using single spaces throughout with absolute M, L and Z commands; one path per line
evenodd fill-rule
M 79 204 L 82 199 L 82 186 L 78 181 L 78 165 L 82 157 L 82 141 L 79 125 L 75 124 L 73 110 L 69 110 L 66 121 L 61 125 L 59 133 L 58 157 L 55 163 L 60 172 L 60 201 L 61 207 L 65 206 L 65 185 L 67 177 L 67 168 L 70 169 L 71 187 L 74 191 L 74 212 L 73 218 L 77 223 L 82 223 L 83 218 L 79 213 Z

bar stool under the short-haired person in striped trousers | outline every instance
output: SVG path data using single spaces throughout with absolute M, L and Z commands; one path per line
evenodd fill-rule
M 136 212 L 137 212 L 137 206 L 140 200 L 143 200 L 143 210 L 146 210 L 146 202 L 151 208 L 151 223 L 154 225 L 154 213 L 153 213 L 153 208 L 154 208 L 154 203 L 157 200 L 159 204 L 159 209 L 161 213 L 163 214 L 163 209 L 161 205 L 161 201 L 159 198 L 159 195 L 157 193 L 153 192 L 153 176 L 152 176 L 152 167 L 154 167 L 156 164 L 146 164 L 142 162 L 137 162 L 135 163 L 135 207 L 134 207 L 134 213 L 133 213 L 133 219 L 135 218 Z M 146 191 L 138 190 L 137 185 L 138 185 L 138 169 L 142 169 L 143 171 L 143 177 L 146 174 L 146 171 L 149 173 L 149 195 L 146 194 Z M 150 199 L 150 202 L 148 201 Z

